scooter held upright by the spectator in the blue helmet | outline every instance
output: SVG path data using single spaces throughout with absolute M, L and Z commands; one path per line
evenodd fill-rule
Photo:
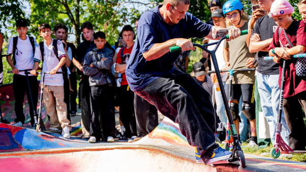
M 230 76 L 228 79 L 230 80 L 230 89 L 228 89 L 228 106 L 231 107 L 232 103 L 232 82 L 233 82 L 233 74 L 235 71 L 244 72 L 244 71 L 255 71 L 256 68 L 245 68 L 245 69 L 230 69 L 230 70 L 221 70 L 220 72 L 229 72 Z M 208 73 L 216 73 L 216 71 L 208 71 Z M 233 137 L 231 136 L 230 130 L 230 121 L 226 121 L 226 137 L 225 137 L 225 144 L 223 149 L 229 151 L 233 148 Z

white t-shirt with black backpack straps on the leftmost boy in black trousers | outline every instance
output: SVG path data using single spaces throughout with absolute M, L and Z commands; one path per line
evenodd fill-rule
M 37 46 L 36 40 L 34 39 L 35 47 Z M 8 54 L 13 53 L 13 38 L 10 39 Z M 26 40 L 22 40 L 18 37 L 16 52 L 15 52 L 15 67 L 19 70 L 32 69 L 34 65 L 34 54 L 33 47 L 30 42 L 30 38 L 27 36 Z M 25 75 L 24 72 L 19 72 L 19 75 Z M 29 74 L 30 76 L 31 74 Z

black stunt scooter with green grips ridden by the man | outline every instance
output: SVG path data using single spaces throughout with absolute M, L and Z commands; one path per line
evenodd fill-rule
M 241 35 L 246 35 L 246 34 L 247 34 L 247 30 L 241 31 Z M 221 163 L 223 164 L 223 163 L 230 163 L 230 162 L 234 162 L 234 161 L 239 161 L 240 166 L 245 167 L 245 159 L 244 159 L 243 151 L 241 150 L 240 141 L 238 140 L 238 135 L 237 135 L 236 127 L 235 127 L 235 124 L 234 124 L 234 121 L 233 121 L 233 118 L 232 118 L 230 107 L 228 106 L 227 103 L 225 103 L 227 101 L 226 100 L 226 95 L 225 95 L 225 91 L 224 91 L 224 87 L 223 87 L 223 83 L 222 83 L 222 80 L 221 80 L 221 75 L 220 75 L 220 71 L 219 71 L 219 67 L 218 67 L 218 62 L 217 62 L 217 58 L 216 58 L 216 54 L 215 54 L 215 52 L 218 49 L 220 43 L 224 39 L 228 39 L 228 38 L 229 38 L 229 36 L 226 35 L 217 42 L 213 42 L 213 43 L 205 44 L 205 45 L 193 44 L 193 46 L 197 46 L 197 47 L 201 48 L 202 50 L 205 50 L 206 52 L 211 54 L 211 58 L 212 58 L 212 61 L 213 61 L 213 64 L 214 64 L 214 67 L 215 67 L 215 70 L 216 70 L 217 79 L 218 79 L 218 82 L 220 84 L 220 91 L 221 91 L 222 99 L 223 99 L 225 110 L 226 110 L 226 116 L 230 120 L 230 130 L 231 130 L 231 135 L 233 137 L 233 145 L 234 146 L 233 146 L 233 151 L 232 151 L 232 154 L 231 154 L 230 158 L 228 158 L 226 160 L 221 160 L 221 161 L 214 162 L 211 165 L 214 167 L 215 164 L 221 164 Z M 206 48 L 206 46 L 211 46 L 211 45 L 216 45 L 215 49 L 212 50 L 212 51 L 210 51 Z M 179 46 L 170 47 L 170 52 L 181 51 L 181 50 L 182 49 Z

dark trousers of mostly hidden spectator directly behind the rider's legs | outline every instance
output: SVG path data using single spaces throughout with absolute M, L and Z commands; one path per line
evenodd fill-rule
M 158 126 L 157 108 L 137 94 L 134 95 L 134 108 L 137 135 L 143 137 Z

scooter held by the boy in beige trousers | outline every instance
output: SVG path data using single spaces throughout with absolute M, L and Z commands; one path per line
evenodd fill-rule
M 30 74 L 30 72 L 24 72 L 24 73 L 25 74 Z M 37 120 L 37 122 L 35 122 L 36 131 L 37 132 L 50 131 L 50 132 L 55 132 L 55 133 L 61 133 L 62 131 L 56 132 L 56 131 L 53 131 L 53 130 L 48 130 L 48 129 L 46 129 L 46 127 L 43 124 L 42 117 L 41 117 L 41 110 L 42 110 L 41 104 L 42 104 L 42 96 L 43 96 L 44 76 L 45 76 L 45 74 L 49 74 L 50 72 L 37 72 L 37 73 L 41 74 L 41 78 L 40 78 L 39 113 L 38 113 L 38 120 Z M 58 74 L 58 73 L 64 73 L 64 72 L 56 72 L 56 73 Z

